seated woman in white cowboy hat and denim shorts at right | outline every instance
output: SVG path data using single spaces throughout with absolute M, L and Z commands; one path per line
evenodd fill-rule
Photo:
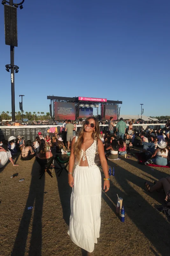
M 150 160 L 154 164 L 166 166 L 167 162 L 169 162 L 167 144 L 165 141 L 161 140 L 157 142 L 157 146 L 158 148 L 155 150 Z

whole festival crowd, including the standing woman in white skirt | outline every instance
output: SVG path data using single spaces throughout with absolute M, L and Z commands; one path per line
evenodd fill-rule
M 120 159 L 120 156 L 126 156 L 135 147 L 141 149 L 140 154 L 147 158 L 145 164 L 170 164 L 170 120 L 161 129 L 145 131 L 134 131 L 133 123 L 129 122 L 127 125 L 123 118 L 114 122 L 113 117 L 110 117 L 108 131 L 100 131 L 99 124 L 95 117 L 87 118 L 79 136 L 76 136 L 76 123 L 72 124 L 71 120 L 66 119 L 58 132 L 47 132 L 44 137 L 38 132 L 35 141 L 25 141 L 19 135 L 0 142 L 0 168 L 8 160 L 13 166 L 17 166 L 12 157 L 18 151 L 22 161 L 29 161 L 33 157 L 49 159 L 53 154 L 70 156 L 68 183 L 73 190 L 68 234 L 75 244 L 87 251 L 87 255 L 93 255 L 94 243 L 100 230 L 101 175 L 98 166 L 103 168 L 103 189 L 107 192 L 110 188 L 107 159 Z M 98 160 L 96 155 L 100 157 Z M 76 167 L 73 176 L 74 164 Z M 170 177 L 160 179 L 153 186 L 145 182 L 145 187 L 149 192 L 163 188 L 166 193 L 165 202 L 170 206 Z

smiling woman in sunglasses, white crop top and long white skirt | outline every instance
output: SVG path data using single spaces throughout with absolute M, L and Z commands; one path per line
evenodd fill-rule
M 96 142 L 105 175 L 103 189 L 107 192 L 110 188 L 107 161 L 99 134 L 97 118 L 88 117 L 83 122 L 79 137 L 72 140 L 68 168 L 68 183 L 73 188 L 68 235 L 76 245 L 87 251 L 87 255 L 94 255 L 94 243 L 97 243 L 100 231 L 101 173 L 95 164 Z

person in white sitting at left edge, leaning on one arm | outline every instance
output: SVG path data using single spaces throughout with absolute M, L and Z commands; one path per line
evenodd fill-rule
M 4 165 L 10 160 L 13 166 L 18 166 L 19 164 L 14 164 L 12 159 L 11 152 L 8 150 L 8 140 L 3 141 L 3 145 L 0 146 L 0 168 L 4 167 Z

